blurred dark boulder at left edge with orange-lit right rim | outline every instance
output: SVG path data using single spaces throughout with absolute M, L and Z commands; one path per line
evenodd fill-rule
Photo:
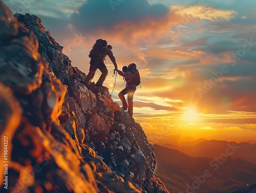
M 38 42 L 33 33 L 17 39 L 13 38 L 11 44 L 1 47 L 0 54 L 4 56 L 0 63 L 1 80 L 21 94 L 31 94 L 41 85 L 44 67 L 39 53 L 33 53 L 37 49 Z M 20 65 L 27 61 L 31 61 L 27 67 Z

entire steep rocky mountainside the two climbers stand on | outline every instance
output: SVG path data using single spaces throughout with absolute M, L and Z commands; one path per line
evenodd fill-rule
M 10 192 L 168 192 L 154 174 L 153 146 L 108 88 L 84 87 L 86 74 L 39 17 L 15 14 L 17 23 L 1 1 L 0 14 L 0 135 L 1 144 L 8 137 Z M 3 174 L 1 167 L 1 181 Z

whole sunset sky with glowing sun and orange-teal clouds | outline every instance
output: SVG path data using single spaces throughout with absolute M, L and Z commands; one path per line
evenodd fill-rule
M 26 4 L 24 3 L 26 2 Z M 146 133 L 256 140 L 256 3 L 251 0 L 6 0 L 40 16 L 72 65 L 88 73 L 97 38 L 119 69 L 135 62 L 142 79 L 134 118 Z M 113 65 L 107 58 L 113 89 Z M 97 71 L 93 81 L 97 81 Z M 125 87 L 117 77 L 113 99 Z M 163 132 L 163 128 L 164 132 Z

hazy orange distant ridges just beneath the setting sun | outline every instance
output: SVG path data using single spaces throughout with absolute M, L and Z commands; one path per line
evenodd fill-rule
M 177 149 L 192 157 L 218 158 L 221 154 L 229 154 L 231 158 L 241 158 L 256 164 L 256 144 L 236 143 L 218 140 L 203 141 L 190 146 L 163 144 L 162 146 Z

